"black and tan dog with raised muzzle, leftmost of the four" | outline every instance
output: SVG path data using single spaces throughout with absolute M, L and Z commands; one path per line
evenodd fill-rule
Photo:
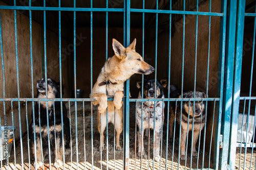
M 47 87 L 48 98 L 60 98 L 59 88 L 57 87 L 57 83 L 53 79 L 51 78 L 47 79 L 47 86 L 48 86 Z M 37 98 L 42 98 L 42 99 L 46 98 L 46 80 L 45 79 L 39 80 L 37 82 L 36 87 L 37 87 Z M 48 119 L 47 119 L 47 110 L 48 110 Z M 62 136 L 61 114 L 63 115 L 64 137 Z M 54 102 L 54 103 L 48 102 L 48 108 L 47 108 L 46 102 L 41 101 L 40 108 L 39 108 L 39 103 L 36 102 L 34 106 L 34 115 L 35 116 L 33 116 L 33 110 L 32 110 L 32 113 L 31 113 L 32 122 L 29 127 L 29 138 L 31 141 L 34 158 L 35 158 L 34 146 L 36 144 L 37 159 L 35 159 L 35 164 L 37 164 L 37 168 L 39 166 L 43 166 L 42 158 L 45 158 L 45 156 L 49 154 L 48 153 L 49 150 L 48 150 L 47 120 L 49 120 L 49 138 L 50 138 L 51 155 L 52 154 L 54 155 L 55 153 L 57 153 L 57 155 L 55 155 L 54 166 L 61 167 L 63 165 L 62 140 L 64 140 L 64 143 L 65 143 L 66 153 L 70 148 L 70 122 L 67 116 L 66 106 L 62 104 L 62 113 L 61 113 L 60 102 Z M 54 128 L 54 122 L 55 122 L 55 128 Z M 34 133 L 36 137 L 36 142 L 34 141 Z M 40 136 L 41 136 L 41 140 L 40 140 Z M 55 139 L 55 136 L 56 136 L 56 139 Z M 41 145 L 42 145 L 42 151 L 41 151 Z M 43 157 L 41 153 L 43 153 Z

